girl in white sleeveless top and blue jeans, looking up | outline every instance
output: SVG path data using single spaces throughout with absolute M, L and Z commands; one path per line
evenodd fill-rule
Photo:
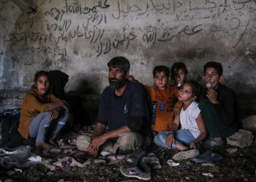
M 184 151 L 195 149 L 196 143 L 206 138 L 207 131 L 198 108 L 201 86 L 196 81 L 185 82 L 178 92 L 178 100 L 183 101 L 181 113 L 175 116 L 170 131 L 159 132 L 154 143 L 165 149 Z M 179 124 L 181 128 L 178 130 Z

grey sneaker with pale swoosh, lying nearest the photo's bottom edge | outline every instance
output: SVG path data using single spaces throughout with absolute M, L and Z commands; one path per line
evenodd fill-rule
M 140 180 L 151 180 L 151 173 L 144 173 L 138 166 L 134 167 L 127 167 L 124 166 L 120 167 L 121 173 L 128 177 L 128 178 L 138 178 Z

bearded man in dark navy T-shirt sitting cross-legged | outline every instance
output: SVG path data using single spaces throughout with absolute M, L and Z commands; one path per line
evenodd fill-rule
M 150 145 L 150 124 L 143 87 L 128 80 L 129 61 L 115 57 L 108 62 L 110 86 L 102 92 L 97 124 L 88 147 L 90 154 L 132 151 Z M 108 127 L 108 130 L 106 130 Z

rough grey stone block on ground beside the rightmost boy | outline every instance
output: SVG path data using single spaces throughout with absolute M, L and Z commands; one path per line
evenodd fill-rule
M 235 132 L 234 135 L 231 135 L 227 138 L 227 144 L 230 146 L 238 146 L 240 148 L 244 148 L 246 146 L 250 146 L 253 141 L 252 132 L 248 130 L 239 130 Z

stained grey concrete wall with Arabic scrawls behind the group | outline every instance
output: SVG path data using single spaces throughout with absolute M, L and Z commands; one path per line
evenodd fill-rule
M 256 108 L 256 96 L 246 97 L 256 91 L 253 0 L 37 0 L 32 15 L 0 0 L 0 23 L 0 90 L 28 90 L 36 71 L 59 69 L 69 74 L 67 91 L 99 94 L 116 55 L 144 84 L 154 66 L 177 61 L 200 81 L 214 60 Z

